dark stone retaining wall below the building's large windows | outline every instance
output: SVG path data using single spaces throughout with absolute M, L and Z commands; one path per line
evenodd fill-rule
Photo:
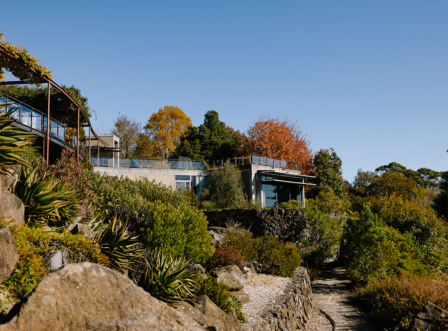
M 226 227 L 231 220 L 250 229 L 254 236 L 265 233 L 294 242 L 306 229 L 306 214 L 301 209 L 220 209 L 203 211 L 212 226 Z

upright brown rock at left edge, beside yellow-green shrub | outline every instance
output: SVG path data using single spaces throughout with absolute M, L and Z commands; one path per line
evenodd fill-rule
M 0 227 L 0 284 L 8 278 L 19 262 L 19 253 L 7 226 Z

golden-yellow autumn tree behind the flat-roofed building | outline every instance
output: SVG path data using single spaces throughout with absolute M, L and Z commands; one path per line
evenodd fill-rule
M 153 157 L 168 158 L 189 126 L 191 118 L 177 106 L 165 106 L 153 113 L 144 127 Z

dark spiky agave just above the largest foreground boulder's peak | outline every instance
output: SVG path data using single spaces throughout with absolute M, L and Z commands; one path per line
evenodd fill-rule
M 120 272 L 132 270 L 131 263 L 144 251 L 142 248 L 135 247 L 139 241 L 137 237 L 128 237 L 127 231 L 128 221 L 122 223 L 115 217 L 96 240 L 101 253 L 109 258 L 109 267 Z

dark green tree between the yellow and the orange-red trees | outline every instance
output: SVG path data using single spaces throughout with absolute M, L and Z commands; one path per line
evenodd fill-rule
M 215 161 L 235 156 L 237 143 L 233 138 L 234 130 L 219 120 L 214 110 L 204 116 L 204 123 L 188 127 L 180 138 L 172 158 L 187 156 L 196 160 Z

